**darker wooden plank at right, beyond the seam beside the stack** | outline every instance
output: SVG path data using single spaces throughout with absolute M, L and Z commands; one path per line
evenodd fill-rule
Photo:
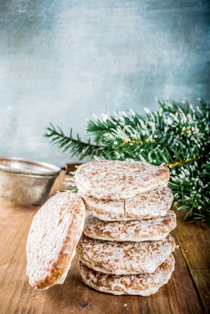
M 205 222 L 187 223 L 186 213 L 175 210 L 177 227 L 175 237 L 189 268 L 205 312 L 210 311 L 210 236 Z

